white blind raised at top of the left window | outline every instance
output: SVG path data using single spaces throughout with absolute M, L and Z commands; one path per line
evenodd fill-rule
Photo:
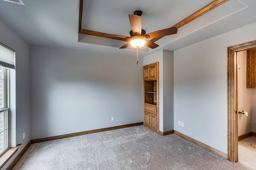
M 15 69 L 15 51 L 0 43 L 0 65 Z

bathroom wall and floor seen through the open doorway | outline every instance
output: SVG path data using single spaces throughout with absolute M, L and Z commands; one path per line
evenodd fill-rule
M 238 162 L 256 169 L 256 122 L 252 119 L 256 112 L 256 88 L 247 88 L 247 51 L 239 51 L 236 56 L 236 98 Z

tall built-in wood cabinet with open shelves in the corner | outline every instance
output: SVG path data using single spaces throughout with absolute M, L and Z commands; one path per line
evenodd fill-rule
M 143 67 L 144 125 L 159 133 L 158 62 Z

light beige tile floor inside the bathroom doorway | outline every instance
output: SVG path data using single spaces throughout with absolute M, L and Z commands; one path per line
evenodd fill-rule
M 238 142 L 238 162 L 256 170 L 256 137 Z

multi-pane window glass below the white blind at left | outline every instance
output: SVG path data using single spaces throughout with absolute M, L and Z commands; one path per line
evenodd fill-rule
M 0 66 L 0 154 L 9 148 L 7 87 L 7 69 L 4 66 Z

